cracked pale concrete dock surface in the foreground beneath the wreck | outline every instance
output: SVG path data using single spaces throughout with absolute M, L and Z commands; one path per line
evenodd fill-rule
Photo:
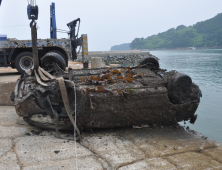
M 79 170 L 222 169 L 222 145 L 180 126 L 84 132 L 75 150 L 74 141 L 28 125 L 13 106 L 0 106 L 0 120 L 1 170 L 73 170 L 76 160 Z

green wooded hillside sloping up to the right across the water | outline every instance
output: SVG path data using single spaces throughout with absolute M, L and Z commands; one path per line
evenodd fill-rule
M 193 26 L 178 26 L 147 38 L 135 38 L 131 49 L 222 46 L 222 13 Z

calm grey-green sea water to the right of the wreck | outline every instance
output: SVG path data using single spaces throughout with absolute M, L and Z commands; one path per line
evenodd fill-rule
M 222 49 L 151 51 L 160 67 L 188 74 L 203 94 L 191 129 L 222 143 Z

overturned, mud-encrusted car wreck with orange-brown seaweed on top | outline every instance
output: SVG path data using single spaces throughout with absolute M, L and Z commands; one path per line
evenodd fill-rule
M 36 74 L 22 75 L 12 98 L 17 114 L 43 129 L 73 129 L 67 107 L 80 131 L 165 126 L 188 120 L 194 123 L 202 96 L 188 75 L 161 69 L 151 54 L 135 67 L 69 69 L 56 76 L 42 71 Z M 64 79 L 66 101 L 59 77 Z

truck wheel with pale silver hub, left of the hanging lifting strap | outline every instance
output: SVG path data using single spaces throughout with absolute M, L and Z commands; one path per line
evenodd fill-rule
M 15 68 L 22 74 L 33 68 L 33 55 L 31 52 L 22 52 L 15 58 Z

